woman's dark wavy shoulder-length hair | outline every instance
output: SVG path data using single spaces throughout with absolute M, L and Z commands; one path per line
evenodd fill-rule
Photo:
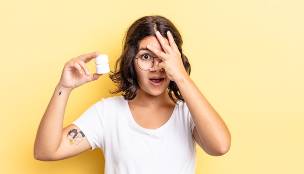
M 188 75 L 190 75 L 191 67 L 182 50 L 182 36 L 174 24 L 163 16 L 144 16 L 137 19 L 126 32 L 122 54 L 115 63 L 115 71 L 111 71 L 109 75 L 112 81 L 117 85 L 116 90 L 110 91 L 112 94 L 123 92 L 122 96 L 125 100 L 132 100 L 135 98 L 139 85 L 137 82 L 133 60 L 138 51 L 139 41 L 147 36 L 156 36 L 156 31 L 159 31 L 162 36 L 166 37 L 167 39 L 167 31 L 172 33 L 174 41 L 182 54 L 184 67 Z M 169 83 L 168 93 L 172 101 L 177 102 L 178 100 L 181 100 L 184 102 L 184 98 L 174 81 Z

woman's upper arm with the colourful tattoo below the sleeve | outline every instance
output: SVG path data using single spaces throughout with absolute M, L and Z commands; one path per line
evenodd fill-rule
M 74 124 L 63 129 L 62 140 L 54 160 L 67 159 L 91 148 L 84 133 Z

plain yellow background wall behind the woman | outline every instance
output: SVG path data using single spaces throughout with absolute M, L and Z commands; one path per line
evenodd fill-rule
M 197 174 L 303 174 L 303 0 L 1 0 L 0 173 L 103 172 L 100 149 L 34 160 L 35 133 L 64 63 L 100 50 L 113 70 L 125 30 L 150 14 L 180 29 L 191 77 L 232 134 L 222 157 L 198 149 Z M 75 89 L 65 126 L 113 87 L 104 75 Z

